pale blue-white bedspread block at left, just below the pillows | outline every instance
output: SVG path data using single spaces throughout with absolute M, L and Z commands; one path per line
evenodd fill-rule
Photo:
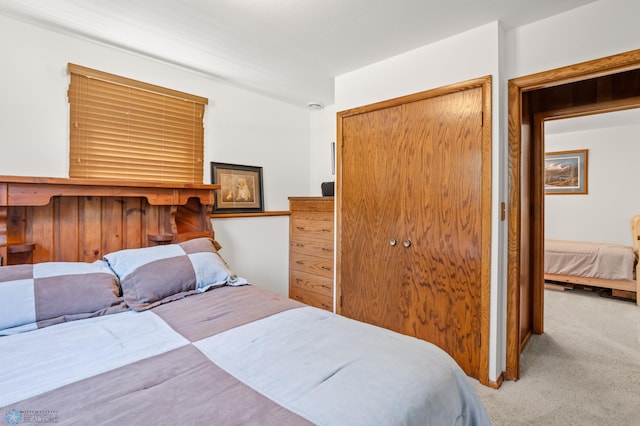
M 0 407 L 188 343 L 151 311 L 0 338 Z

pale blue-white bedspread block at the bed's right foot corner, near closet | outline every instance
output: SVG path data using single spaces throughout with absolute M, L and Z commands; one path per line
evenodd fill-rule
M 314 424 L 490 424 L 469 379 L 444 351 L 319 309 L 285 311 L 195 346 Z

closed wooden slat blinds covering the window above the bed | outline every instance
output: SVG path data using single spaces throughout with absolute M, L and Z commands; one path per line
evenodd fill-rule
M 68 64 L 69 177 L 202 183 L 206 98 Z

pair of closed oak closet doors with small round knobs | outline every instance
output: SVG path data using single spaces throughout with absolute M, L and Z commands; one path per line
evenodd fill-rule
M 339 117 L 338 311 L 478 377 L 483 89 L 379 106 Z

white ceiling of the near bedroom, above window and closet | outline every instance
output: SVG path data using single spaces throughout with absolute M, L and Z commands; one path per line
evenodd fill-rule
M 116 46 L 295 105 L 335 76 L 463 31 L 594 0 L 2 0 L 0 14 Z

